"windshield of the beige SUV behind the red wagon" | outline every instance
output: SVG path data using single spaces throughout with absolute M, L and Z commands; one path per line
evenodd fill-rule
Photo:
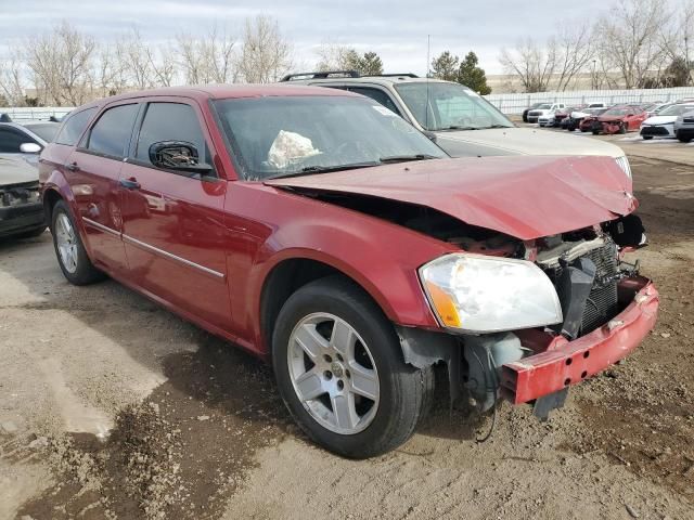
M 513 127 L 484 98 L 462 84 L 417 81 L 399 83 L 395 88 L 414 118 L 426 130 Z

